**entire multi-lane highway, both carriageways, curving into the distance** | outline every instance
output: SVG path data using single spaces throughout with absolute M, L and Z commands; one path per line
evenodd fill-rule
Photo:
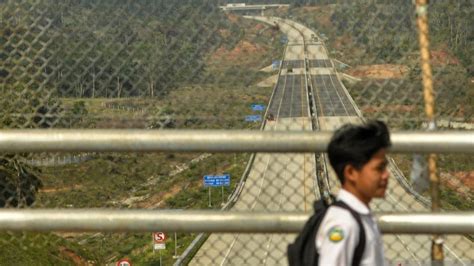
M 363 117 L 339 80 L 324 44 L 311 29 L 290 20 L 248 17 L 278 24 L 288 36 L 280 75 L 267 114 L 264 130 L 334 130 L 345 123 L 360 123 Z M 320 197 L 318 178 L 324 189 L 337 193 L 338 181 L 325 157 L 320 157 L 327 177 L 316 176 L 314 154 L 257 154 L 245 186 L 233 210 L 311 211 Z M 390 165 L 392 180 L 385 200 L 376 200 L 375 212 L 429 211 L 402 186 L 400 171 Z M 324 171 L 323 171 L 324 172 Z M 191 265 L 286 265 L 286 247 L 294 235 L 212 234 L 194 256 Z M 429 236 L 384 235 L 386 258 L 393 263 L 421 265 L 430 261 Z M 450 264 L 474 260 L 472 242 L 462 236 L 445 239 Z

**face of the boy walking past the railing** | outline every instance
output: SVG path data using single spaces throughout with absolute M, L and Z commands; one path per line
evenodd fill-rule
M 360 170 L 356 170 L 357 190 L 368 199 L 383 198 L 388 185 L 386 150 L 379 150 Z

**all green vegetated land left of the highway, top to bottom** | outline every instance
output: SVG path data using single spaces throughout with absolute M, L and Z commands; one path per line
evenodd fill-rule
M 281 56 L 279 33 L 230 20 L 216 2 L 0 1 L 0 127 L 257 128 L 243 118 L 251 103 L 268 101 L 271 88 L 255 81 L 269 75 L 260 68 Z M 235 186 L 248 160 L 212 155 L 179 173 L 197 155 L 89 154 L 77 164 L 25 163 L 56 156 L 2 154 L 1 207 L 150 208 L 162 201 L 160 208 L 206 208 L 202 174 L 230 173 Z M 212 200 L 219 208 L 220 193 Z M 192 235 L 178 238 L 182 252 Z M 48 265 L 132 256 L 153 264 L 158 258 L 149 240 L 149 234 L 8 233 L 0 235 L 0 258 Z M 171 253 L 163 255 L 172 262 Z

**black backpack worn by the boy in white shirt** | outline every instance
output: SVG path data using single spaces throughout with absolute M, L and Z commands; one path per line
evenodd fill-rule
M 348 210 L 359 224 L 359 243 L 354 250 L 352 265 L 358 266 L 362 260 L 365 249 L 365 230 L 359 214 L 342 201 L 336 201 L 333 204 Z M 316 234 L 326 211 L 331 206 L 324 200 L 314 202 L 314 214 L 309 218 L 300 232 L 295 242 L 288 245 L 288 262 L 290 266 L 309 266 L 318 265 L 319 254 L 316 250 Z

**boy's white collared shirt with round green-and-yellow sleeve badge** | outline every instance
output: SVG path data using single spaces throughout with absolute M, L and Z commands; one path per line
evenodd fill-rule
M 365 229 L 365 249 L 360 265 L 387 265 L 380 230 L 370 209 L 350 192 L 341 189 L 338 200 L 360 214 Z M 319 265 L 352 265 L 359 243 L 359 225 L 346 209 L 331 206 L 316 234 Z

